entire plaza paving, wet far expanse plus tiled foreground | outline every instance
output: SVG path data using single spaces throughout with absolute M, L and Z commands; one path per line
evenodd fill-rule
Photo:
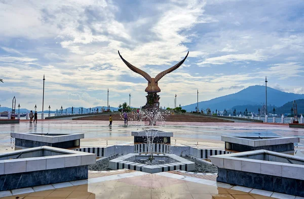
M 84 133 L 80 147 L 133 145 L 131 131 L 147 128 L 145 123 L 123 121 L 108 127 L 106 121 L 44 120 L 37 124 L 0 125 L 0 152 L 13 151 L 10 133 Z M 170 123 L 155 127 L 173 132 L 171 144 L 204 149 L 222 149 L 221 136 L 288 136 L 299 137 L 295 155 L 304 156 L 304 129 L 262 123 Z M 2 191 L 3 198 L 64 199 L 64 198 L 301 198 L 282 193 L 216 182 L 216 174 L 184 171 L 147 174 L 139 171 L 89 171 L 88 180 Z

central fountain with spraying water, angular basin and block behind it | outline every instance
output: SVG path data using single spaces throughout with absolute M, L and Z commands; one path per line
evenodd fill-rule
M 146 173 L 158 173 L 172 170 L 193 171 L 195 163 L 176 154 L 170 154 L 172 132 L 154 128 L 156 122 L 164 121 L 166 111 L 158 109 L 141 110 L 141 120 L 149 126 L 133 131 L 134 153 L 129 153 L 109 161 L 111 169 L 131 169 Z

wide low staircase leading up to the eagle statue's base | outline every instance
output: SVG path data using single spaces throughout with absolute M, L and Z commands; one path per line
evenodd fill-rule
M 165 122 L 199 122 L 199 123 L 233 123 L 234 121 L 224 120 L 217 117 L 208 117 L 195 114 L 168 114 L 165 115 Z M 137 121 L 137 114 L 128 113 L 129 121 Z M 109 114 L 99 114 L 93 116 L 84 116 L 73 118 L 73 120 L 89 120 L 89 121 L 109 121 Z M 112 113 L 113 121 L 123 121 L 120 113 Z M 144 117 L 139 116 L 140 121 L 145 121 Z

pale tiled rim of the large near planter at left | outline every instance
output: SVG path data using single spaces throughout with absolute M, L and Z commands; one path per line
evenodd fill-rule
M 0 156 L 18 155 L 21 152 L 34 152 L 38 150 L 49 150 L 63 155 L 50 155 L 39 157 L 26 157 L 21 159 L 0 160 L 0 175 L 23 173 L 31 171 L 42 171 L 49 169 L 77 167 L 96 163 L 96 154 L 85 153 L 51 146 L 40 146 L 27 148 L 7 153 L 2 153 Z M 16 167 L 17 165 L 17 167 Z

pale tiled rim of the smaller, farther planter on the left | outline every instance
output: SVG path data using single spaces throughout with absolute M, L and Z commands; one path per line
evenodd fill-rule
M 57 143 L 57 142 L 65 142 L 71 140 L 79 140 L 85 138 L 84 133 L 65 133 L 58 136 L 48 136 L 46 133 L 11 133 L 11 136 L 16 139 L 23 140 L 32 140 L 38 142 L 47 142 L 47 143 Z M 59 134 L 59 133 L 50 133 L 50 134 Z

